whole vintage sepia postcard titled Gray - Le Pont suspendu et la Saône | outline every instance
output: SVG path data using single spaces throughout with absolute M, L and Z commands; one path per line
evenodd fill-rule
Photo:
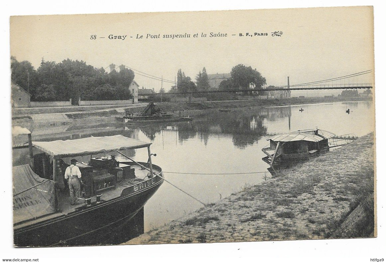
M 12 16 L 10 55 L 16 247 L 377 237 L 370 6 Z

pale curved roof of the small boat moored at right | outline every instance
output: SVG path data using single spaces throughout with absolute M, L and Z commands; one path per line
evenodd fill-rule
M 318 130 L 318 134 L 315 135 L 315 132 Z M 267 140 L 272 140 L 275 142 L 291 142 L 291 141 L 311 141 L 311 142 L 319 142 L 323 139 L 329 139 L 335 137 L 335 134 L 322 130 L 322 129 L 306 129 L 306 130 L 299 130 L 296 132 L 286 133 L 286 134 L 279 134 L 275 135 L 274 137 L 271 137 Z

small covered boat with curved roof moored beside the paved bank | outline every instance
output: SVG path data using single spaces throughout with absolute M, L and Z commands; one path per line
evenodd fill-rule
M 308 160 L 330 150 L 328 139 L 335 134 L 321 129 L 306 129 L 278 134 L 269 139 L 269 146 L 262 149 L 262 160 L 271 167 Z

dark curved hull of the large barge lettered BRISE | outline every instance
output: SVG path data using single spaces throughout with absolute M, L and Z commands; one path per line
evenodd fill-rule
M 14 230 L 14 245 L 17 247 L 47 247 L 98 245 L 106 243 L 113 235 L 122 235 L 125 225 L 143 208 L 147 200 L 157 191 L 163 180 L 156 177 L 154 185 L 137 193 L 117 199 L 93 203 L 91 207 L 75 211 Z M 82 207 L 81 207 L 82 208 Z M 127 232 L 130 235 L 132 232 Z

